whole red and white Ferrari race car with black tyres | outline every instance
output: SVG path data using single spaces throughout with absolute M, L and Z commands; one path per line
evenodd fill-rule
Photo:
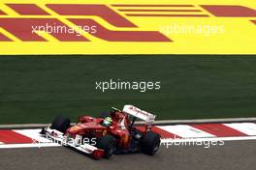
M 138 119 L 144 121 L 143 130 L 134 126 Z M 69 119 L 58 116 L 41 134 L 94 158 L 136 152 L 152 156 L 160 146 L 160 135 L 151 130 L 154 120 L 155 115 L 124 105 L 122 111 L 112 107 L 112 111 L 102 113 L 99 118 L 79 116 L 75 126 L 71 126 Z

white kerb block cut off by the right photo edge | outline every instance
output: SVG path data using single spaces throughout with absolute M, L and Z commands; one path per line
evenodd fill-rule
M 254 123 L 232 123 L 232 124 L 224 124 L 229 128 L 234 128 L 243 132 L 247 135 L 256 135 L 256 124 Z

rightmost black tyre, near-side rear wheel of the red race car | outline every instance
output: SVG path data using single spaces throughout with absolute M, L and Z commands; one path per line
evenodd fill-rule
M 147 131 L 141 142 L 141 148 L 144 154 L 153 156 L 160 147 L 161 136 L 153 131 Z

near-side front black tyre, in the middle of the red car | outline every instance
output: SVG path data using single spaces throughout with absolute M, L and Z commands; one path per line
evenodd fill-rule
M 97 147 L 99 149 L 104 150 L 104 152 L 105 152 L 104 157 L 105 158 L 110 158 L 113 155 L 113 153 L 115 151 L 115 145 L 116 145 L 116 140 L 110 134 L 107 134 L 106 136 L 103 136 L 97 143 Z

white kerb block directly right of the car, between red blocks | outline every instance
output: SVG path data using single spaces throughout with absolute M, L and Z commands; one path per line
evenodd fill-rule
M 210 134 L 206 131 L 203 131 L 198 128 L 193 128 L 186 125 L 177 125 L 177 126 L 158 126 L 157 128 L 162 128 L 166 131 L 169 131 L 173 134 L 176 134 L 183 138 L 189 137 L 216 137 L 213 134 Z

